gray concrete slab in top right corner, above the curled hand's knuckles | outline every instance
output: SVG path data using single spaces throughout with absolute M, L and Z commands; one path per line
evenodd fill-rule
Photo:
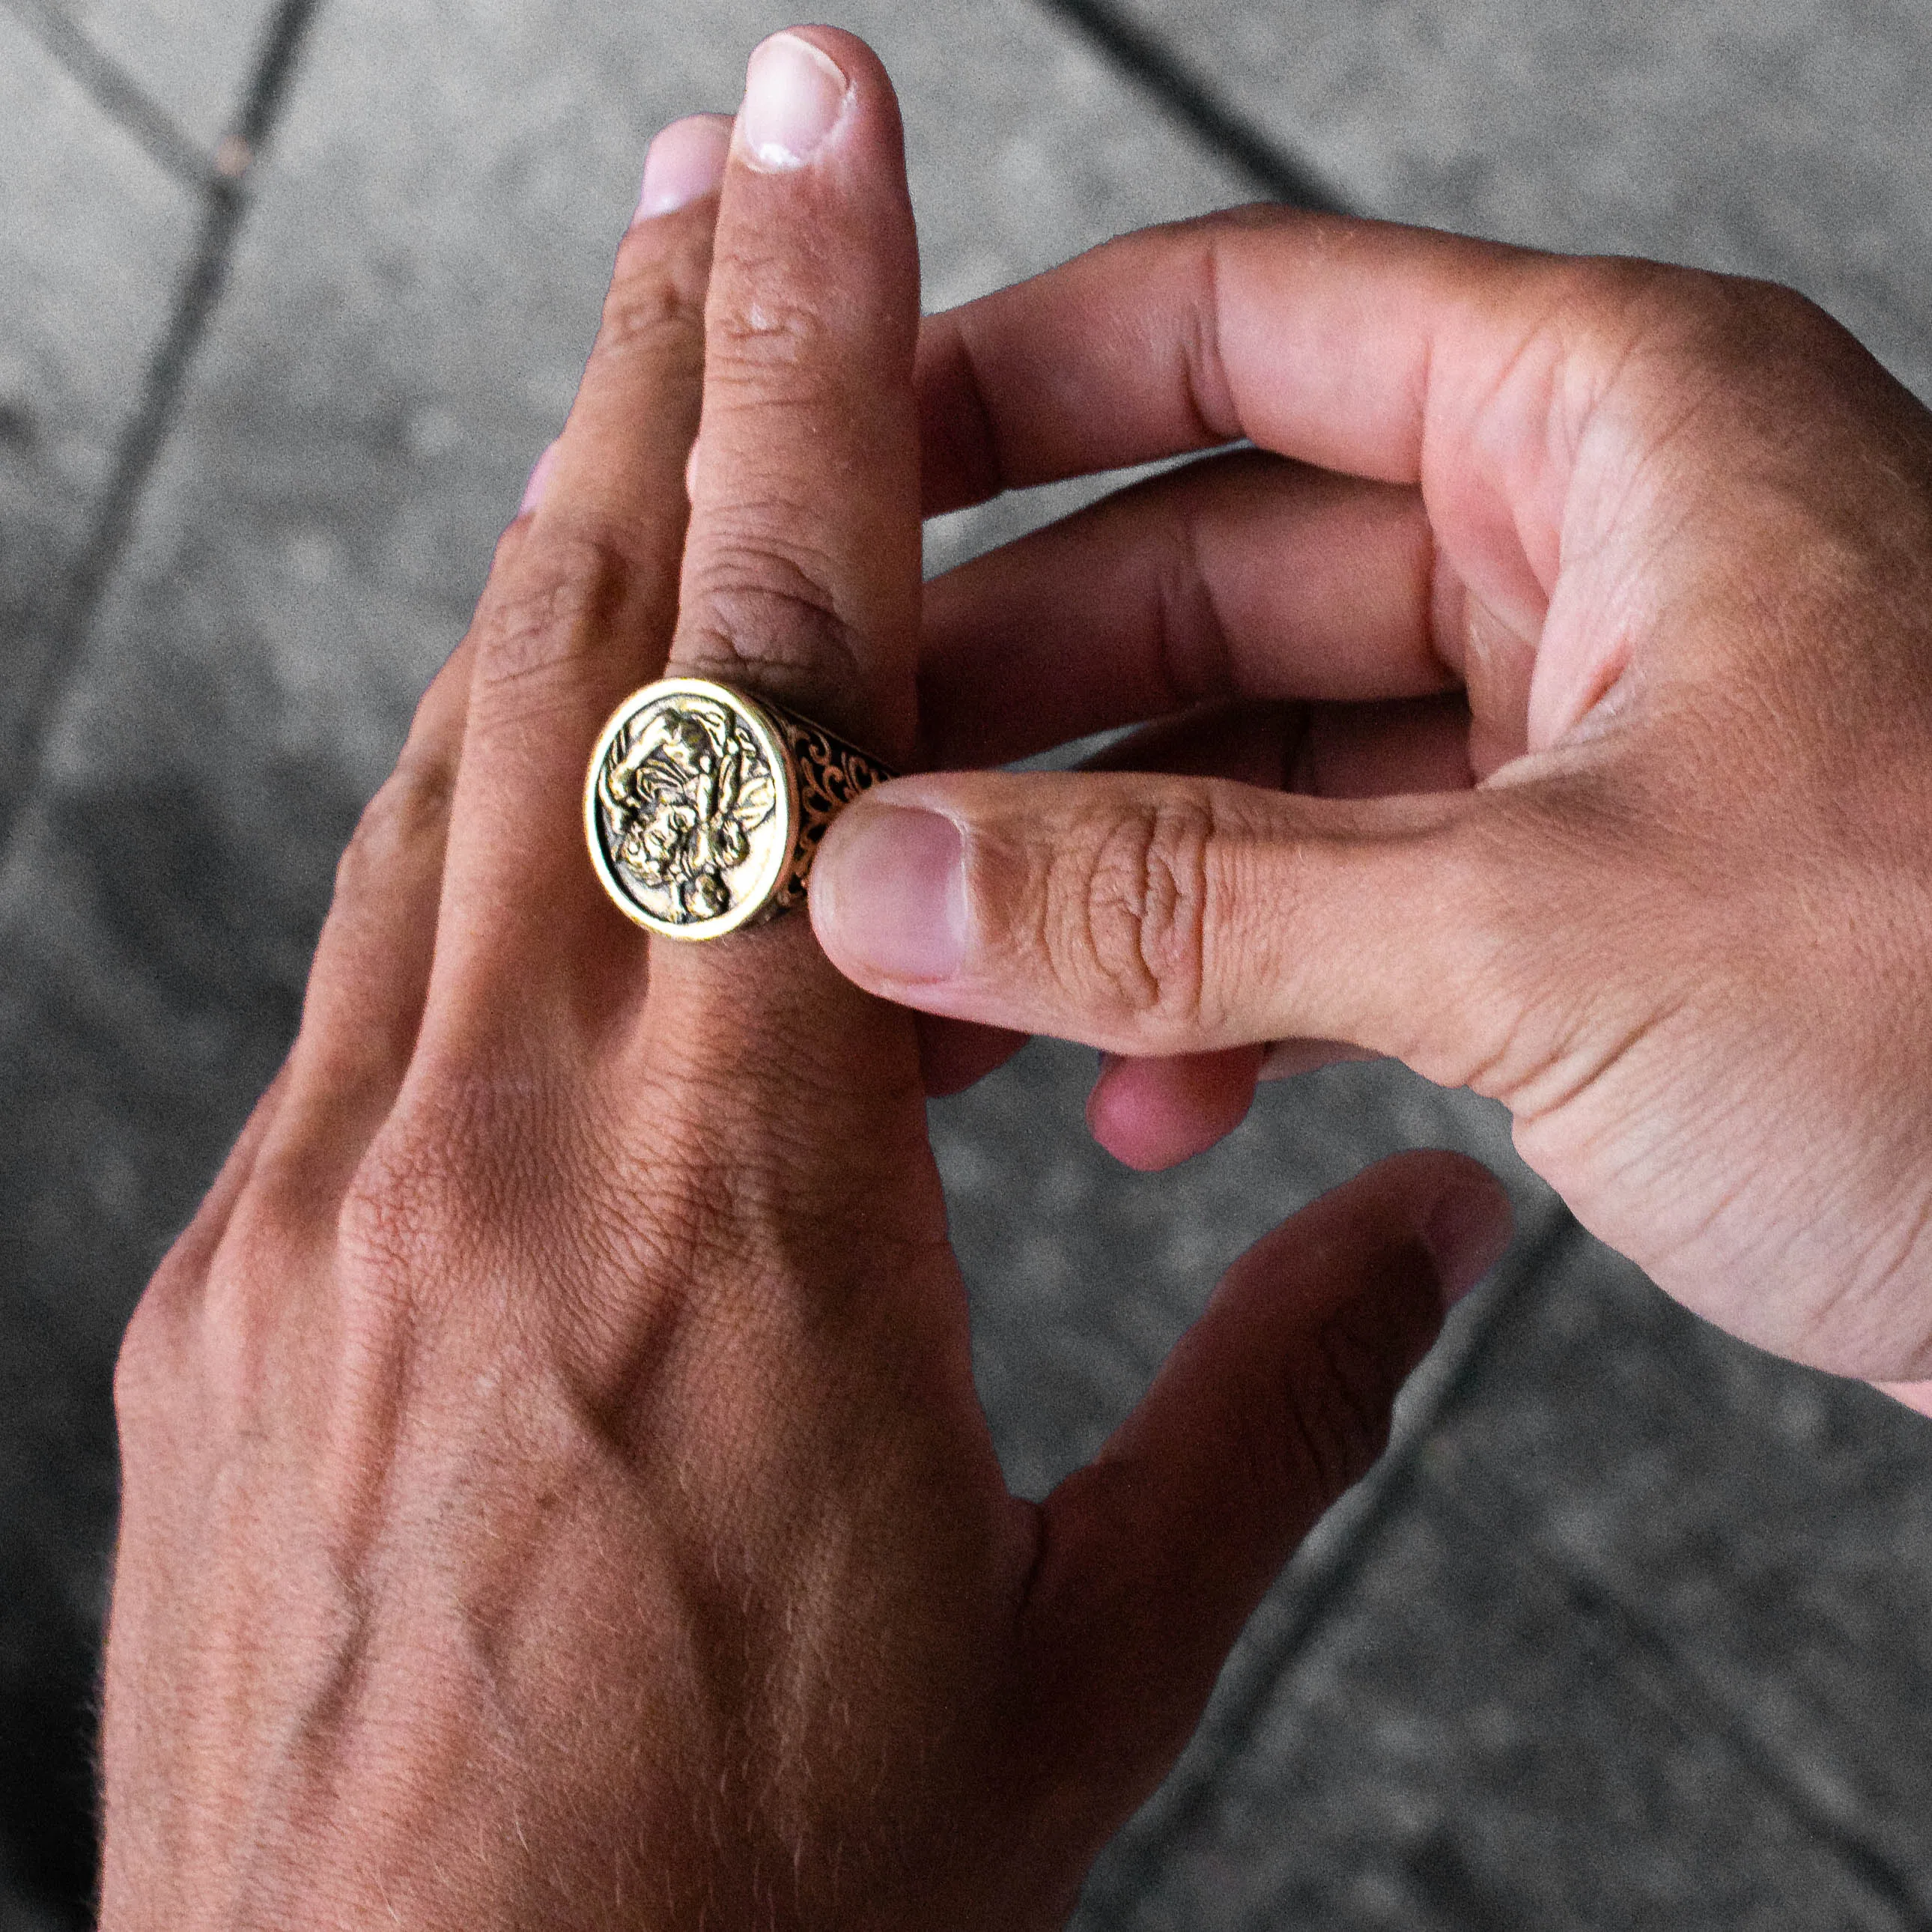
M 1124 0 L 1364 213 L 1803 288 L 1932 394 L 1911 0 Z

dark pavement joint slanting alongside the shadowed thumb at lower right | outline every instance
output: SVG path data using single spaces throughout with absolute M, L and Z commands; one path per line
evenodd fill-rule
M 1474 1310 L 1476 1320 L 1464 1331 L 1447 1374 L 1435 1383 L 1428 1408 L 1408 1424 L 1401 1447 L 1383 1457 L 1374 1476 L 1368 1478 L 1374 1490 L 1360 1519 L 1343 1538 L 1341 1548 L 1308 1578 L 1289 1613 L 1287 1629 L 1238 1665 L 1240 1677 L 1229 1700 L 1233 1710 L 1219 1723 L 1204 1727 L 1204 1737 L 1213 1747 L 1211 1758 L 1204 1752 L 1204 1762 L 1190 1777 L 1171 1779 L 1159 1797 L 1150 1799 L 1136 1822 L 1117 1841 L 1119 1851 L 1105 1884 L 1090 1886 L 1082 1893 L 1082 1915 L 1097 1911 L 1101 1922 L 1124 1924 L 1128 1911 L 1146 1895 L 1150 1884 L 1157 1882 L 1173 1839 L 1186 1832 L 1213 1803 L 1213 1793 L 1227 1766 L 1238 1764 L 1246 1756 L 1267 1692 L 1281 1681 L 1296 1656 L 1314 1642 L 1329 1615 L 1354 1588 L 1376 1546 L 1414 1499 L 1422 1455 L 1435 1430 L 1463 1406 L 1478 1370 L 1492 1352 L 1492 1343 L 1522 1310 L 1530 1293 L 1557 1265 L 1563 1252 L 1582 1238 L 1584 1231 L 1578 1221 L 1563 1202 L 1553 1200 L 1548 1223 L 1536 1229 L 1505 1262 L 1484 1306 Z

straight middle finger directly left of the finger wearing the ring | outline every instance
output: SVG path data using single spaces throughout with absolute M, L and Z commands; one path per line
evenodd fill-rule
M 570 419 L 477 607 L 437 1024 L 524 1030 L 574 1010 L 587 972 L 636 980 L 583 856 L 583 767 L 676 622 L 723 139 L 697 116 L 651 145 Z

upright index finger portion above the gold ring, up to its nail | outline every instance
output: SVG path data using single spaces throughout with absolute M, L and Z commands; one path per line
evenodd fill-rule
M 902 763 L 920 597 L 918 245 L 898 106 L 829 27 L 752 56 L 707 317 L 678 670 Z

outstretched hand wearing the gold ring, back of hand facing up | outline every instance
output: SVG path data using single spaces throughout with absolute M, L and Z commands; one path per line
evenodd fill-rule
M 667 655 L 912 750 L 898 147 L 810 29 L 728 166 L 715 122 L 653 149 L 288 1066 L 135 1314 L 110 1932 L 1057 1922 L 1505 1238 L 1470 1163 L 1374 1169 L 1018 1501 L 912 1018 L 804 920 L 647 956 L 603 900 L 583 765 Z

